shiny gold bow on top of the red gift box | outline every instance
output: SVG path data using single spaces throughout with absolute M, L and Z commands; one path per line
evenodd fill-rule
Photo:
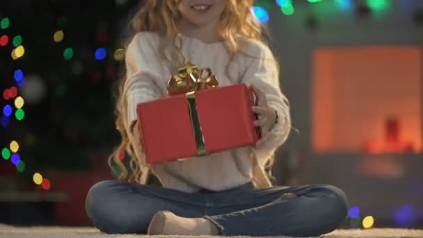
M 202 74 L 206 72 L 205 77 Z M 185 63 L 178 69 L 178 74 L 170 76 L 168 81 L 168 95 L 180 95 L 207 88 L 216 88 L 218 81 L 209 68 L 198 68 L 191 62 Z

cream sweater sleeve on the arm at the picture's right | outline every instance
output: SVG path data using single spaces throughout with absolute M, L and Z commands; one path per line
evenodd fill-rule
M 263 168 L 275 150 L 287 140 L 291 118 L 286 97 L 280 90 L 278 68 L 269 47 L 260 42 L 248 42 L 245 50 L 244 84 L 254 84 L 266 95 L 266 100 L 278 115 L 278 122 L 266 134 L 263 143 L 255 147 L 259 165 Z

